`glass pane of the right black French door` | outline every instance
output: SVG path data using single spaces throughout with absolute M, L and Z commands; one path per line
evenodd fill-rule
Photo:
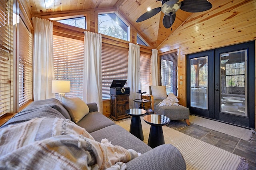
M 247 50 L 220 53 L 220 111 L 247 113 Z

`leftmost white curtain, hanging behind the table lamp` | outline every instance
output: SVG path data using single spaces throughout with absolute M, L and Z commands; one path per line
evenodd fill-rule
M 54 80 L 52 22 L 32 18 L 34 26 L 33 94 L 34 101 L 55 98 L 52 93 Z

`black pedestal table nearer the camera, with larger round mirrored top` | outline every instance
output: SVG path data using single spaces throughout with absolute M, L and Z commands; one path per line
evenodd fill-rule
M 164 144 L 164 134 L 162 126 L 166 126 L 170 123 L 170 119 L 164 115 L 146 115 L 143 117 L 144 121 L 151 125 L 148 146 L 155 148 L 161 144 Z

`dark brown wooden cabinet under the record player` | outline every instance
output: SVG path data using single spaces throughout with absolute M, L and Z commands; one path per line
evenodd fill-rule
M 125 111 L 129 109 L 129 94 L 127 95 L 110 95 L 110 118 L 114 121 L 128 118 Z

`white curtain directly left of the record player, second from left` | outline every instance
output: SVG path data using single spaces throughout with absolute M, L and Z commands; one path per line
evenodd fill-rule
M 101 74 L 102 35 L 84 32 L 84 94 L 86 103 L 95 102 L 103 113 Z

